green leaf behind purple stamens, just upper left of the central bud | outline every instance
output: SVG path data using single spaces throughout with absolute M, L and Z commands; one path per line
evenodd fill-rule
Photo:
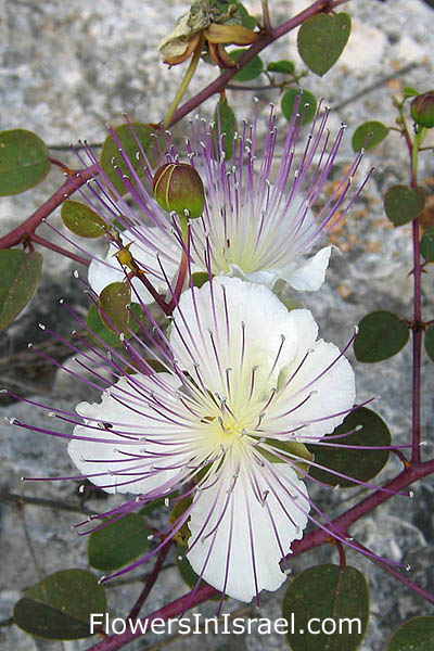
M 145 124 L 142 123 L 132 123 L 132 128 L 136 132 L 139 142 L 143 150 L 148 150 L 152 143 L 152 133 L 153 129 Z M 117 138 L 120 141 L 124 155 L 126 155 L 133 169 L 138 173 L 139 177 L 143 176 L 142 169 L 142 161 L 137 157 L 137 154 L 140 155 L 140 146 L 137 143 L 133 131 L 131 130 L 130 125 L 122 125 L 120 127 L 115 128 L 115 132 Z M 152 152 L 151 152 L 152 153 Z M 146 151 L 146 154 L 150 155 L 150 152 Z M 152 159 L 152 155 L 150 155 Z M 125 163 L 123 154 L 118 150 L 118 144 L 112 135 L 108 135 L 102 145 L 100 163 L 107 175 L 108 179 L 112 181 L 117 192 L 120 195 L 129 192 L 127 186 L 124 183 L 122 177 L 119 176 L 119 170 L 115 169 L 114 165 L 118 166 L 122 170 L 122 174 L 127 175 L 132 183 L 135 183 L 135 179 L 132 177 L 131 170 L 128 168 L 128 165 Z

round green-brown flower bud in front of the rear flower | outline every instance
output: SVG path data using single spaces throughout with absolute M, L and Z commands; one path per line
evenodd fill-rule
M 194 167 L 187 163 L 166 163 L 154 176 L 153 192 L 164 210 L 175 210 L 194 219 L 205 205 L 203 182 Z M 186 212 L 187 210 L 187 212 Z

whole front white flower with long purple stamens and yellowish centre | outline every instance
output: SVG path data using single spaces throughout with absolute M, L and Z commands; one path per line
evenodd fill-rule
M 181 295 L 159 355 L 167 371 L 122 376 L 101 404 L 77 407 L 68 451 L 80 472 L 139 503 L 190 497 L 169 536 L 187 523 L 193 570 L 243 601 L 284 582 L 279 562 L 310 510 L 303 444 L 354 405 L 349 363 L 317 335 L 308 310 L 218 277 Z

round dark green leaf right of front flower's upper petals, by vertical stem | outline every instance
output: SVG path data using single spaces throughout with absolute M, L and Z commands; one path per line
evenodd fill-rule
M 354 342 L 359 361 L 382 361 L 399 353 L 409 337 L 408 324 L 390 311 L 375 311 L 363 317 Z

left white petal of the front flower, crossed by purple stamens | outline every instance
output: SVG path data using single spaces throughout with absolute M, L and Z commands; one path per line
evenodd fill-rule
M 166 387 L 164 396 L 167 401 L 167 399 L 170 399 L 167 387 L 176 388 L 175 385 L 179 386 L 179 381 L 168 373 L 159 373 L 158 375 L 164 381 Z M 137 374 L 135 379 L 142 387 L 148 386 L 149 391 L 153 390 L 155 394 L 158 391 L 159 393 L 163 392 L 163 388 L 153 383 L 146 375 Z M 162 470 L 155 473 L 152 472 L 151 467 L 153 464 L 157 464 L 158 468 L 173 465 L 182 459 L 182 452 L 179 454 L 178 458 L 176 456 L 159 456 L 159 458 L 144 456 L 167 452 L 167 448 L 165 449 L 163 445 L 153 443 L 153 438 L 164 439 L 166 436 L 173 441 L 174 437 L 179 437 L 179 427 L 170 422 L 167 422 L 164 427 L 155 425 L 155 412 L 148 406 L 148 401 L 141 393 L 144 393 L 144 391 L 139 385 L 135 388 L 135 385 L 131 386 L 126 378 L 122 378 L 111 388 L 110 394 L 103 394 L 101 403 L 93 403 L 92 405 L 80 403 L 76 407 L 77 413 L 85 419 L 97 420 L 86 422 L 86 424 L 95 429 L 89 429 L 86 424 L 76 425 L 74 436 L 95 438 L 100 439 L 101 443 L 72 438 L 67 448 L 68 454 L 78 470 L 85 476 L 89 476 L 94 485 L 102 487 L 106 493 L 145 494 L 163 487 L 165 482 L 168 482 L 178 472 L 177 470 Z M 115 399 L 116 397 L 118 399 Z M 119 400 L 125 401 L 126 405 L 123 405 Z M 128 403 L 131 404 L 131 408 L 128 407 Z M 173 403 L 181 411 L 182 406 L 175 398 Z M 108 430 L 100 429 L 97 426 L 98 421 L 113 423 L 113 426 Z M 116 423 L 122 424 L 116 425 Z M 122 435 L 123 432 L 125 436 Z M 133 441 L 131 441 L 132 437 Z M 144 437 L 146 441 L 141 441 Z M 111 443 L 106 443 L 107 441 Z M 175 446 L 170 446 L 170 452 L 177 452 Z M 138 455 L 139 458 L 131 460 L 131 455 Z M 152 474 L 148 474 L 150 472 Z

